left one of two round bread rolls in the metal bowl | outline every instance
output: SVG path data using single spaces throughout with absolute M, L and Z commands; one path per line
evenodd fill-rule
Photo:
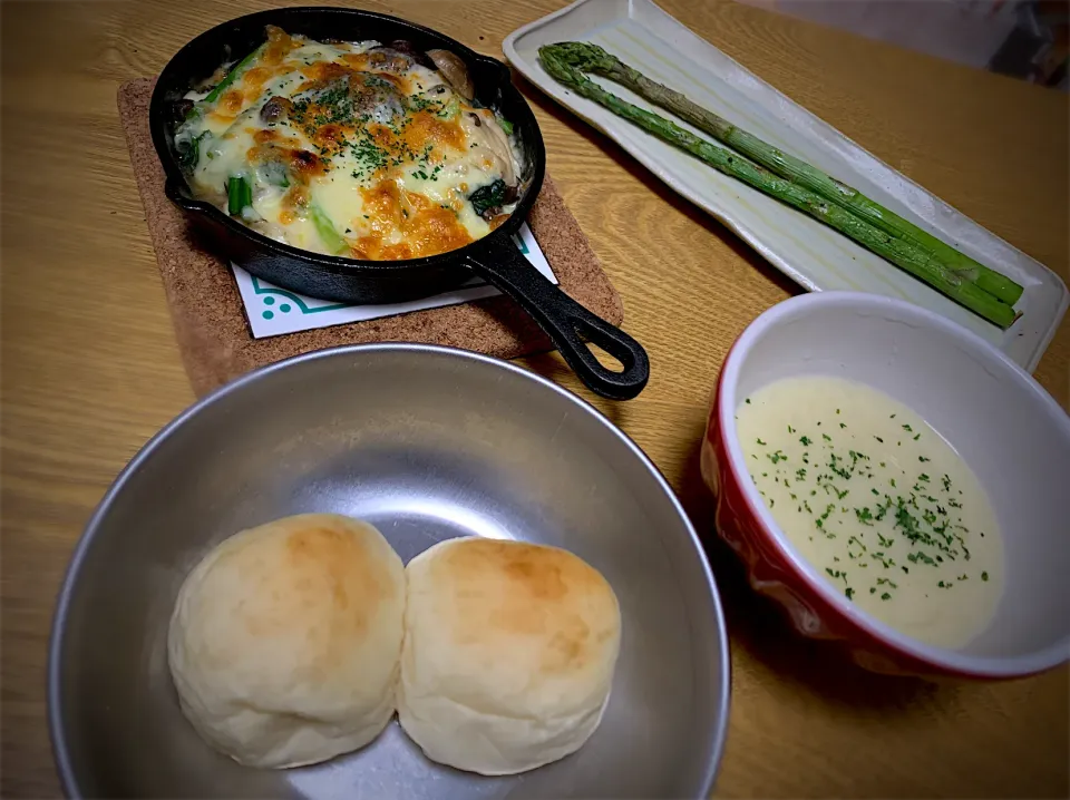
M 405 568 L 372 526 L 286 517 L 212 550 L 178 593 L 168 657 L 182 710 L 251 767 L 363 747 L 390 721 Z

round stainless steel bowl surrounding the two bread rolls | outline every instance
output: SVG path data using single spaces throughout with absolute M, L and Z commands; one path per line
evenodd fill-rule
M 602 726 L 574 755 L 512 778 L 436 765 L 397 724 L 360 752 L 290 771 L 210 750 L 167 671 L 178 587 L 231 534 L 303 511 L 368 519 L 405 560 L 454 536 L 558 545 L 588 560 L 624 618 Z M 59 773 L 78 800 L 706 800 L 729 661 L 694 530 L 620 430 L 517 367 L 385 344 L 254 372 L 145 446 L 75 553 L 48 692 Z

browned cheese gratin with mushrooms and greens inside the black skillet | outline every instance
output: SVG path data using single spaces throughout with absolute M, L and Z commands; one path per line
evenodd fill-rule
M 508 216 L 521 158 L 494 111 L 377 42 L 268 35 L 186 96 L 175 143 L 197 196 L 278 241 L 366 260 L 455 250 Z

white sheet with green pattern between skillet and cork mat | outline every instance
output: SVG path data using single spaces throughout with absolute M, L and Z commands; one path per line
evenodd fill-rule
M 547 279 L 557 283 L 557 277 L 543 251 L 539 248 L 532 230 L 524 223 L 513 237 L 517 248 Z M 432 297 L 414 300 L 408 303 L 388 305 L 347 305 L 327 300 L 314 300 L 295 292 L 279 289 L 266 281 L 253 277 L 236 264 L 231 264 L 237 289 L 245 305 L 245 316 L 253 329 L 254 339 L 278 336 L 283 333 L 308 331 L 312 328 L 329 328 L 347 322 L 374 320 L 380 316 L 406 314 L 410 311 L 437 309 L 442 305 L 467 303 L 470 300 L 493 297 L 500 294 L 481 279 L 473 279 L 463 287 Z

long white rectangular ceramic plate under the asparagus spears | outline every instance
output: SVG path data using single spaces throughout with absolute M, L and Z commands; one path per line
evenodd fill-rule
M 1012 277 L 1025 287 L 1015 306 L 1022 318 L 1001 331 L 816 219 L 712 167 L 697 168 L 687 153 L 566 90 L 543 69 L 538 48 L 570 40 L 601 45 L 654 80 L 840 178 Z M 908 300 L 969 328 L 1030 371 L 1067 311 L 1067 287 L 1043 264 L 867 153 L 650 0 L 578 0 L 514 31 L 503 50 L 525 78 L 615 139 L 805 289 L 854 290 Z M 628 89 L 596 80 L 624 99 L 655 110 Z

